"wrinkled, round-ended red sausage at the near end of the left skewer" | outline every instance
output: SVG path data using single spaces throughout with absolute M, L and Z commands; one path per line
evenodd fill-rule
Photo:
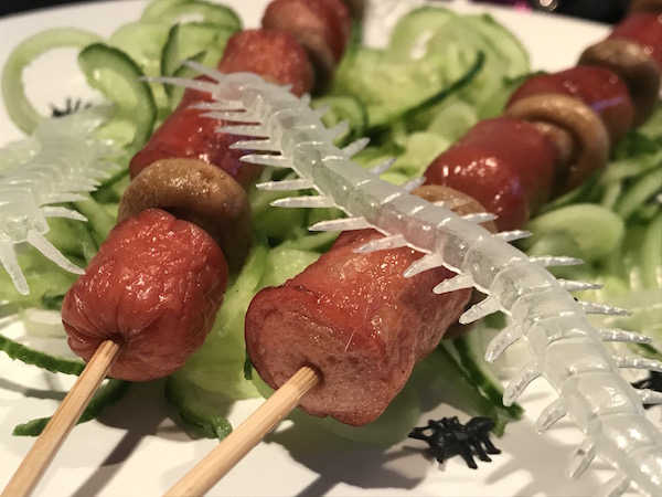
M 117 224 L 62 304 L 71 349 L 89 360 L 121 343 L 109 374 L 129 381 L 181 368 L 223 300 L 227 264 L 201 228 L 158 209 Z

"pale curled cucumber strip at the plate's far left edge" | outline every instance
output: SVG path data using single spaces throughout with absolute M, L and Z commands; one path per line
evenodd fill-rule
M 42 31 L 20 43 L 9 55 L 2 71 L 2 101 L 11 120 L 24 133 L 32 134 L 44 118 L 28 99 L 23 70 L 53 49 L 82 49 L 100 40 L 98 34 L 76 28 Z

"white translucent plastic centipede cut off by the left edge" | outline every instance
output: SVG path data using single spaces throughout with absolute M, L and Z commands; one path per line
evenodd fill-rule
M 30 290 L 17 260 L 17 247 L 28 243 L 60 267 L 82 274 L 44 236 L 47 218 L 86 221 L 62 202 L 85 200 L 118 166 L 106 161 L 114 150 L 94 137 L 107 119 L 107 109 L 96 107 L 58 119 L 44 120 L 34 134 L 0 151 L 0 263 L 17 290 Z

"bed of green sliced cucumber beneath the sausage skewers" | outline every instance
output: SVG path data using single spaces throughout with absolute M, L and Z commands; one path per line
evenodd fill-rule
M 184 60 L 215 66 L 229 36 L 250 27 L 242 11 L 255 10 L 253 19 L 257 20 L 266 2 L 246 2 L 241 8 L 204 0 L 129 3 L 138 14 L 108 33 L 99 34 L 94 28 L 56 28 L 30 34 L 9 53 L 2 72 L 6 113 L 25 138 L 0 150 L 0 191 L 3 173 L 34 154 L 26 137 L 51 117 L 44 116 L 43 108 L 38 109 L 24 83 L 29 66 L 39 65 L 42 55 L 70 50 L 87 85 L 81 94 L 49 95 L 53 115 L 102 109 L 94 136 L 108 145 L 106 159 L 116 167 L 95 183 L 94 191 L 63 202 L 63 208 L 79 213 L 86 222 L 49 218 L 44 233 L 66 260 L 83 268 L 115 225 L 118 203 L 129 182 L 130 158 L 182 95 L 181 88 L 146 76 L 194 76 L 182 64 Z M 524 43 L 493 17 L 458 13 L 444 4 L 407 12 L 387 35 L 383 34 L 385 42 L 380 46 L 366 45 L 363 35 L 362 28 L 354 27 L 352 43 L 330 88 L 314 97 L 312 106 L 328 107 L 323 119 L 329 127 L 349 123 L 340 145 L 363 136 L 371 138 L 370 146 L 354 157 L 356 162 L 370 167 L 396 158 L 383 178 L 398 184 L 423 175 L 436 156 L 480 119 L 499 116 L 512 91 L 540 70 Z M 566 61 L 566 66 L 574 62 Z M 75 131 L 72 117 L 61 119 L 60 130 L 71 126 Z M 629 347 L 655 359 L 662 359 L 661 123 L 659 104 L 653 117 L 630 130 L 612 151 L 604 171 L 545 205 L 527 226 L 532 236 L 517 242 L 531 255 L 581 258 L 583 266 L 557 268 L 555 274 L 601 284 L 601 289 L 591 290 L 590 298 L 628 308 L 632 315 L 602 318 L 596 324 L 652 337 L 650 345 Z M 9 139 L 3 135 L 4 130 L 0 142 L 6 145 Z M 62 154 L 67 160 L 66 154 L 72 151 Z M 266 170 L 260 181 L 277 175 Z M 223 438 L 232 431 L 227 413 L 234 403 L 269 394 L 246 359 L 247 306 L 259 289 L 280 285 L 313 263 L 337 235 L 313 234 L 308 226 L 340 212 L 273 208 L 270 203 L 285 193 L 250 190 L 255 223 L 252 253 L 231 281 L 204 346 L 182 369 L 157 382 L 173 419 L 193 437 Z M 0 348 L 9 358 L 46 370 L 46 374 L 79 374 L 84 364 L 67 355 L 66 335 L 57 319 L 62 298 L 76 275 L 33 246 L 20 246 L 17 253 L 29 293 L 18 292 L 10 274 L 0 267 Z M 505 406 L 501 401 L 499 368 L 508 364 L 488 367 L 483 359 L 490 337 L 505 324 L 503 316 L 490 317 L 468 336 L 444 340 L 416 367 L 388 410 L 365 427 L 349 427 L 303 413 L 293 419 L 314 430 L 388 446 L 405 438 L 421 413 L 450 404 L 467 416 L 493 419 L 495 433 L 502 435 L 524 412 L 522 405 Z M 22 332 L 4 334 L 18 328 Z M 124 381 L 107 380 L 81 421 L 98 416 L 130 391 L 131 385 Z M 47 417 L 23 414 L 22 423 L 1 429 L 13 429 L 14 435 L 39 435 Z

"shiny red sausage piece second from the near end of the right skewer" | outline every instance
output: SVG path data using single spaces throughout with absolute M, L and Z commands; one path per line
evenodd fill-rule
M 496 214 L 499 230 L 520 229 L 547 199 L 555 151 L 535 126 L 511 117 L 478 123 L 427 168 L 426 184 L 444 184 Z

